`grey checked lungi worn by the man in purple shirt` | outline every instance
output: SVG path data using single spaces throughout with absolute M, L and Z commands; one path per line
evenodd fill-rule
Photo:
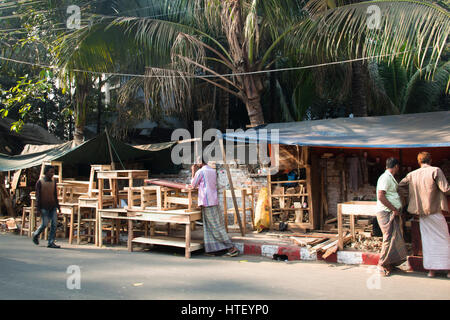
M 225 230 L 223 215 L 218 206 L 202 207 L 205 252 L 232 248 L 233 242 Z

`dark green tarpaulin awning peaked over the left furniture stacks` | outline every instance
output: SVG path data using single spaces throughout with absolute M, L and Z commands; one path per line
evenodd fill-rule
M 110 137 L 111 153 L 115 162 L 156 158 L 155 151 L 170 148 L 174 143 L 159 144 L 154 150 L 138 149 Z M 29 147 L 28 150 L 33 149 Z M 34 148 L 35 149 L 35 148 Z M 105 133 L 78 146 L 72 141 L 45 146 L 39 152 L 8 156 L 0 154 L 0 171 L 12 171 L 41 165 L 44 161 L 63 161 L 64 164 L 106 164 L 111 163 L 108 139 Z M 35 149 L 36 150 L 36 149 Z

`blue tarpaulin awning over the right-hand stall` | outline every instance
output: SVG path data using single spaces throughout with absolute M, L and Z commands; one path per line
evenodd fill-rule
M 271 123 L 246 132 L 227 133 L 224 138 L 347 148 L 450 147 L 450 111 Z

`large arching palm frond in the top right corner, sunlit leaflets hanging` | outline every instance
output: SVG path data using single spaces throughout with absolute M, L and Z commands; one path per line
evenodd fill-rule
M 450 32 L 449 12 L 428 1 L 374 0 L 329 10 L 319 10 L 314 1 L 311 19 L 297 26 L 295 45 L 322 61 L 401 56 L 406 66 L 414 62 L 423 68 L 430 62 L 434 71 Z M 369 16 L 370 6 L 380 15 Z M 371 25 L 370 19 L 378 20 Z

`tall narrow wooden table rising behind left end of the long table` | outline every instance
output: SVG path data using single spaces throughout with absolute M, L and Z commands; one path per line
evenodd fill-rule
M 134 187 L 135 180 L 145 180 L 148 179 L 148 170 L 109 170 L 109 171 L 98 171 L 97 172 L 98 179 L 98 207 L 97 207 L 97 241 L 96 245 L 102 246 L 102 232 L 103 232 L 103 223 L 100 223 L 100 214 L 99 210 L 105 209 L 104 199 L 108 197 L 105 195 L 104 189 L 104 180 L 110 181 L 111 187 L 111 195 L 112 196 L 112 206 L 111 209 L 117 209 L 119 206 L 119 190 L 118 190 L 118 181 L 119 180 L 128 180 L 128 188 Z M 127 197 L 131 193 L 126 193 Z M 131 198 L 127 199 L 127 203 L 132 204 Z M 111 219 L 111 237 L 113 237 L 113 229 L 114 227 L 120 228 L 120 219 Z

